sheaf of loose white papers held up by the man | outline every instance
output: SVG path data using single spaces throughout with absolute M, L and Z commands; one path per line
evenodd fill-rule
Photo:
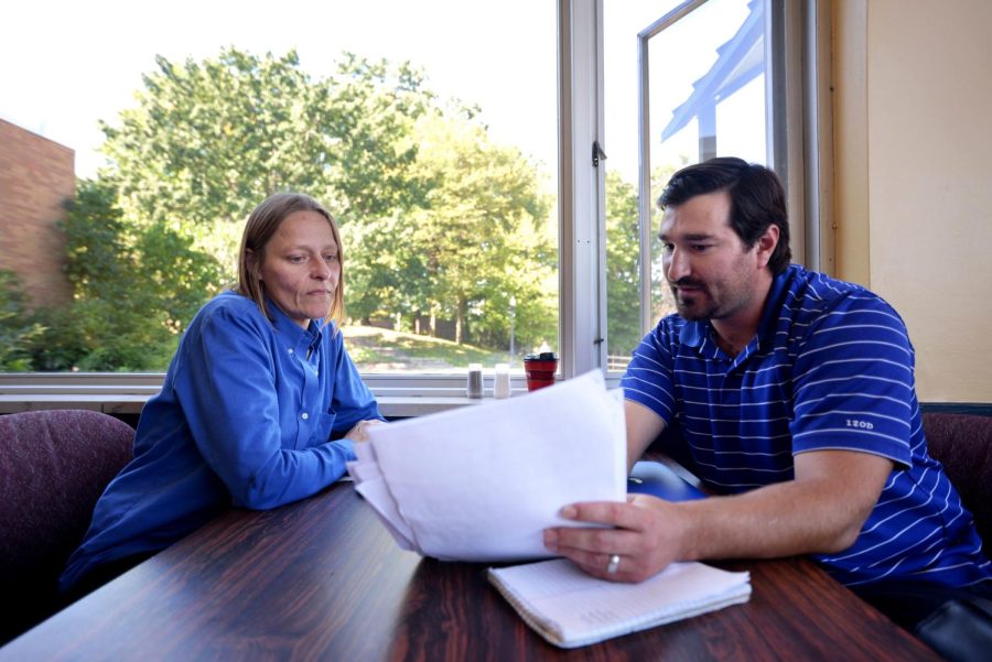
M 405 550 L 444 561 L 550 556 L 561 508 L 626 499 L 619 392 L 589 372 L 508 400 L 368 428 L 355 489 Z

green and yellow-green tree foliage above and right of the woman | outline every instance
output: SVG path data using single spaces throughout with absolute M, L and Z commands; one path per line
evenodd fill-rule
M 351 54 L 320 79 L 294 52 L 157 65 L 137 107 L 104 127 L 101 181 L 144 232 L 193 237 L 233 276 L 240 221 L 302 191 L 342 223 L 352 315 L 452 321 L 459 341 L 498 346 L 516 296 L 520 340 L 553 338 L 540 174 L 475 110 L 441 102 L 408 64 Z

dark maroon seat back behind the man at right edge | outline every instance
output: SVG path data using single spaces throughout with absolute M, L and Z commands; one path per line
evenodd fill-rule
M 992 417 L 925 413 L 930 455 L 944 465 L 992 554 Z

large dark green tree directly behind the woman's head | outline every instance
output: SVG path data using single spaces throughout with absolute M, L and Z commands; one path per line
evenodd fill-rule
M 346 55 L 314 80 L 294 51 L 155 62 L 137 107 L 103 126 L 101 177 L 129 218 L 195 237 L 229 273 L 241 221 L 277 191 L 309 193 L 344 221 L 422 197 L 410 133 L 430 97 L 408 65 Z

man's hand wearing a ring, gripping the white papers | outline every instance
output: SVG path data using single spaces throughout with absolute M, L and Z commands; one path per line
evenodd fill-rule
M 689 530 L 676 504 L 646 495 L 627 497 L 626 503 L 574 503 L 565 506 L 561 516 L 608 528 L 546 529 L 544 546 L 590 575 L 613 582 L 643 582 L 679 561 L 682 536 Z M 611 563 L 616 561 L 614 555 L 619 563 Z

